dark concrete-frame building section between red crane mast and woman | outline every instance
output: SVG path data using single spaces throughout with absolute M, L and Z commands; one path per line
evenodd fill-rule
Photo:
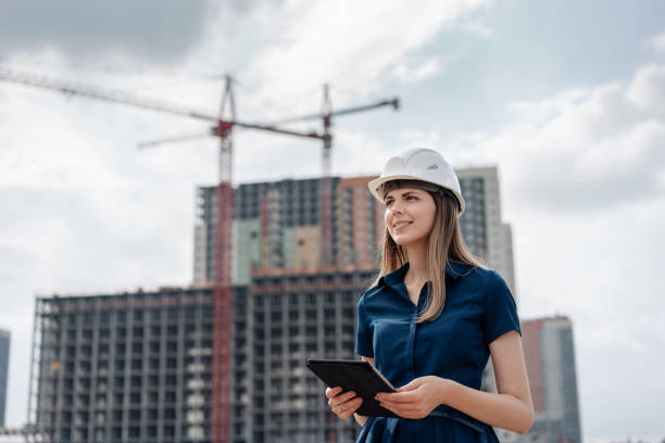
M 255 273 L 247 299 L 251 442 L 353 442 L 360 427 L 340 420 L 306 358 L 355 358 L 355 307 L 376 269 L 329 267 L 314 274 Z

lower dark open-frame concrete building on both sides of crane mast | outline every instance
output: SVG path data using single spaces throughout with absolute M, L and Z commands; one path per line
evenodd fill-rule
M 353 441 L 305 357 L 352 358 L 376 269 L 277 268 L 234 288 L 229 441 Z M 211 287 L 38 298 L 30 420 L 46 441 L 211 441 Z

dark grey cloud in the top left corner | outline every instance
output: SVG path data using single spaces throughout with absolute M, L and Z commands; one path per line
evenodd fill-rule
M 0 54 L 54 48 L 78 61 L 120 53 L 173 62 L 197 43 L 213 10 L 202 0 L 8 0 L 0 3 Z

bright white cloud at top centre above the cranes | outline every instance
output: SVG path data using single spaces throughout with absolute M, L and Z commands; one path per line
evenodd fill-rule
M 271 42 L 256 54 L 242 77 L 259 86 L 258 96 L 275 102 L 291 103 L 289 98 L 325 80 L 367 94 L 376 90 L 382 73 L 396 68 L 444 24 L 482 3 L 292 0 L 284 8 L 283 21 L 276 21 L 277 25 L 266 22 L 265 29 L 259 30 L 272 36 Z M 400 69 L 406 72 L 405 67 Z M 435 62 L 429 62 L 419 75 L 434 71 Z

